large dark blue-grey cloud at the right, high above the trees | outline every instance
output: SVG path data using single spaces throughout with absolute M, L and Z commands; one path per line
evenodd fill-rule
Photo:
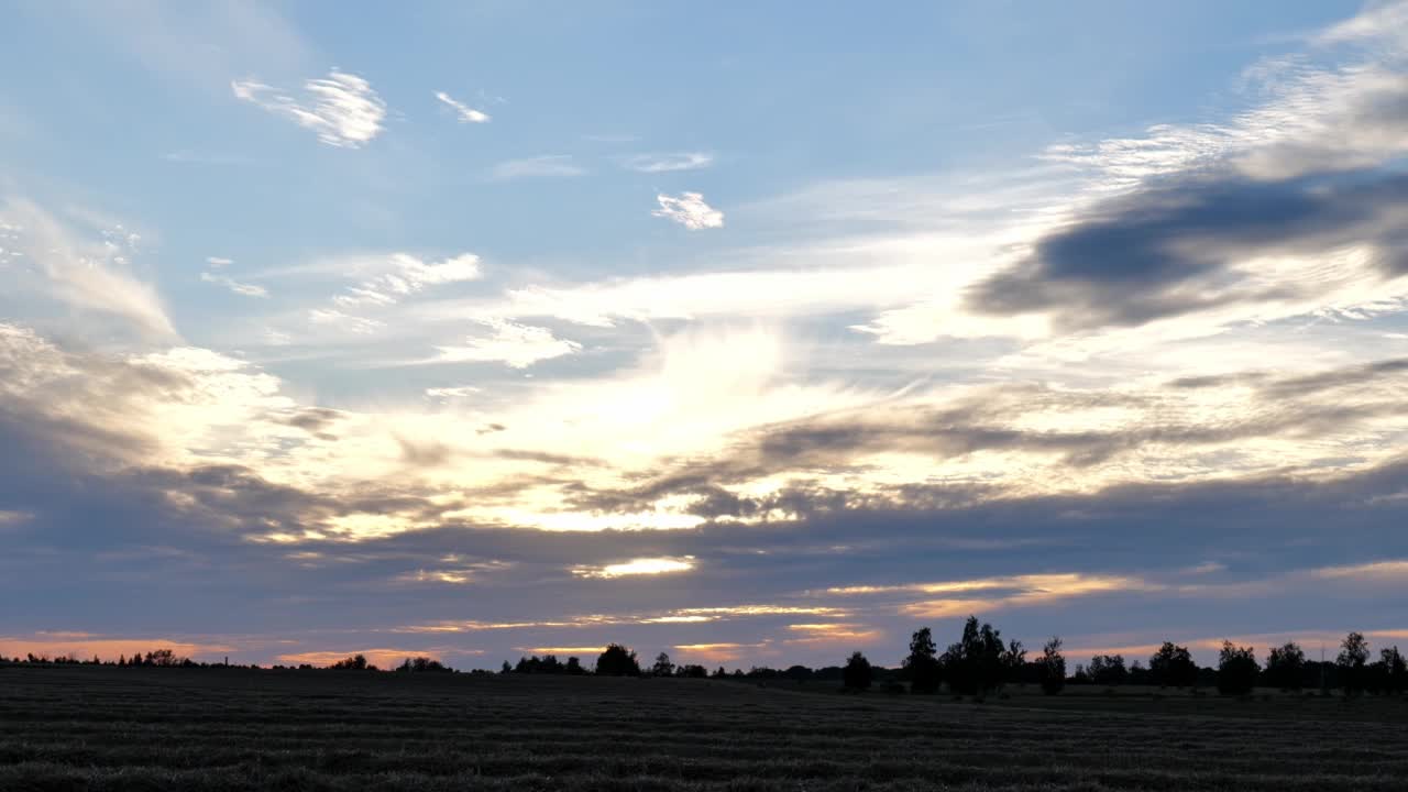
M 1401 275 L 1408 271 L 1405 206 L 1408 176 L 1391 172 L 1153 182 L 1050 233 L 967 302 L 980 313 L 1048 311 L 1060 330 L 1091 330 L 1294 299 L 1314 286 L 1255 285 L 1229 265 L 1252 252 L 1315 255 L 1369 245 L 1384 276 Z

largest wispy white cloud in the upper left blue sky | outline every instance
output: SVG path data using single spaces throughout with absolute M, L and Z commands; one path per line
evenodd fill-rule
M 235 99 L 251 101 L 317 132 L 338 148 L 360 148 L 382 132 L 386 103 L 365 79 L 334 69 L 322 79 L 303 83 L 306 97 L 280 93 L 255 80 L 230 83 Z

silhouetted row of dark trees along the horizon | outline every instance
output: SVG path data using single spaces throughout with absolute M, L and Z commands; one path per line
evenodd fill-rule
M 1408 692 L 1408 664 L 1398 647 L 1378 651 L 1378 660 L 1371 660 L 1369 641 L 1362 633 L 1349 633 L 1340 641 L 1333 661 L 1311 661 L 1295 643 L 1271 648 L 1264 665 L 1257 660 L 1253 647 L 1239 647 L 1231 641 L 1222 644 L 1215 668 L 1201 668 L 1193 660 L 1187 647 L 1166 641 L 1148 662 L 1133 660 L 1126 662 L 1121 654 L 1101 654 L 1088 662 L 1067 668 L 1060 637 L 1053 637 L 1042 645 L 1041 654 L 1028 657 L 1021 641 L 1002 640 L 1001 631 L 988 623 L 980 623 L 970 616 L 957 641 L 939 651 L 929 627 L 921 627 L 910 638 L 908 655 L 897 668 L 873 665 L 865 654 L 852 652 L 842 665 L 808 668 L 791 665 L 783 669 L 753 667 L 749 671 L 735 668 L 714 671 L 696 664 L 672 662 L 670 655 L 660 652 L 655 662 L 643 665 L 635 651 L 622 644 L 610 644 L 596 658 L 591 669 L 577 657 L 559 660 L 555 654 L 543 657 L 521 657 L 517 664 L 504 661 L 500 674 L 551 674 L 583 676 L 673 676 L 742 681 L 790 681 L 790 682 L 839 682 L 848 691 L 867 691 L 881 685 L 888 692 L 934 695 L 942 689 L 956 696 L 987 696 L 1002 691 L 1007 685 L 1036 685 L 1048 695 L 1060 693 L 1067 685 L 1097 685 L 1114 688 L 1119 685 L 1149 685 L 1159 688 L 1217 688 L 1222 695 L 1240 696 L 1255 688 L 1277 688 L 1281 691 L 1338 689 L 1346 696 L 1364 692 L 1376 695 L 1401 695 Z M 117 661 L 77 660 L 69 655 L 56 658 L 28 654 L 24 658 L 6 658 L 3 664 L 34 665 L 111 665 L 151 668 L 231 668 L 228 660 L 220 664 L 196 662 L 179 657 L 172 650 L 162 648 L 132 657 L 118 657 Z M 249 665 L 246 668 L 260 668 Z M 275 665 L 273 669 L 297 671 L 382 671 L 362 654 L 355 654 L 327 667 L 300 664 L 296 667 Z M 406 658 L 387 671 L 400 674 L 458 674 L 449 665 L 428 658 Z M 489 671 L 470 671 L 489 674 Z

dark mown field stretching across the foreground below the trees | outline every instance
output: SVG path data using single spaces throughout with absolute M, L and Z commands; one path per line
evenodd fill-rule
M 1408 788 L 1401 699 L 0 668 L 0 789 Z

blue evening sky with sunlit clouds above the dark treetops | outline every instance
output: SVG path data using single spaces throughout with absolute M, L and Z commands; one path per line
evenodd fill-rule
M 1408 3 L 3 13 L 0 654 L 1408 644 Z

